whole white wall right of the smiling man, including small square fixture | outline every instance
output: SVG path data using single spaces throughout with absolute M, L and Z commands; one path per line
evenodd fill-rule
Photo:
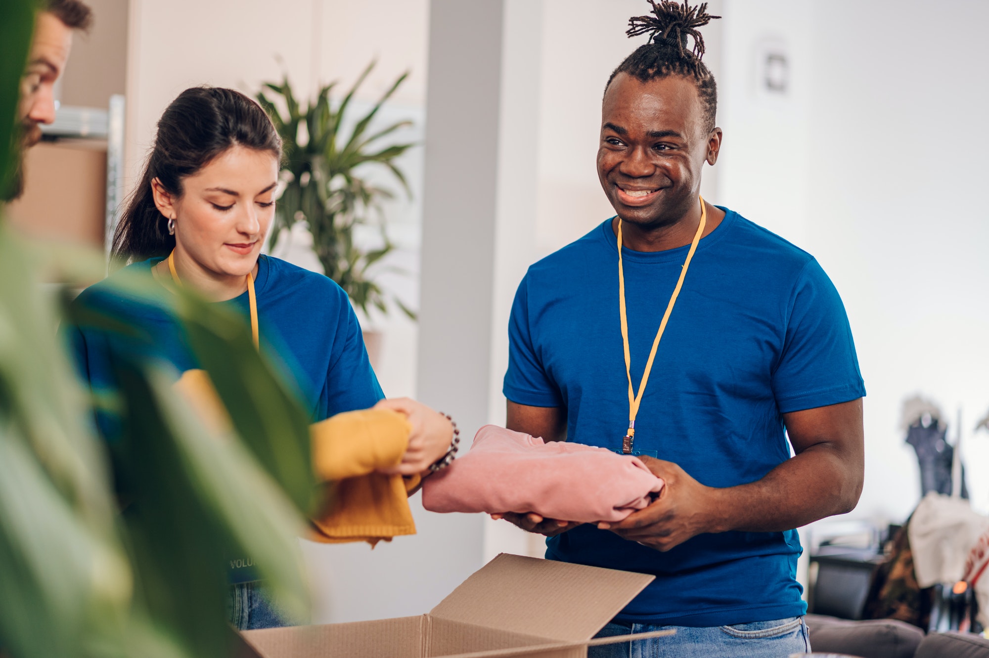
M 989 407 L 989 222 L 972 199 L 989 173 L 973 129 L 989 102 L 989 6 L 942 3 L 950 37 L 927 41 L 919 0 L 724 4 L 718 201 L 808 250 L 841 292 L 868 392 L 850 517 L 902 522 L 920 489 L 903 398 L 934 397 L 949 422 L 963 406 L 968 431 Z M 766 41 L 792 61 L 784 97 L 755 84 Z M 989 511 L 989 435 L 966 452 Z

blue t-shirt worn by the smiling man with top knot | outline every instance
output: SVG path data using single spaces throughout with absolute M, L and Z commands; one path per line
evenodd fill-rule
M 636 419 L 635 449 L 702 484 L 764 477 L 790 456 L 782 414 L 865 394 L 838 291 L 806 252 L 727 210 L 697 247 Z M 688 247 L 622 252 L 638 385 Z M 565 407 L 567 440 L 621 450 L 628 380 L 611 220 L 529 268 L 509 324 L 504 394 Z M 806 612 L 796 531 L 697 535 L 660 552 L 584 525 L 546 556 L 656 575 L 617 617 L 715 626 Z

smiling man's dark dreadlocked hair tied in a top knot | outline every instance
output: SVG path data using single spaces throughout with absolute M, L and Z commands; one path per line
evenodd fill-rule
M 649 41 L 640 45 L 635 51 L 618 64 L 611 72 L 606 92 L 611 81 L 619 73 L 627 73 L 632 77 L 649 82 L 657 78 L 671 75 L 681 75 L 693 78 L 697 85 L 700 102 L 704 106 L 705 124 L 708 130 L 714 127 L 714 116 L 718 108 L 718 88 L 714 83 L 711 71 L 700 60 L 704 56 L 704 38 L 697 28 L 707 25 L 711 19 L 721 18 L 707 13 L 707 3 L 690 7 L 686 2 L 680 5 L 672 0 L 655 2 L 653 15 L 634 16 L 628 20 L 629 37 L 638 37 L 649 33 Z M 693 39 L 693 47 L 687 49 L 687 37 Z

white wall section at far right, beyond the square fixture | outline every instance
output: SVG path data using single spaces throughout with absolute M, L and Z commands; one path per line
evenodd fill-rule
M 897 520 L 920 491 L 902 398 L 933 396 L 949 423 L 963 407 L 969 433 L 989 408 L 989 4 L 939 3 L 946 32 L 930 8 L 819 0 L 811 19 L 809 245 L 845 299 L 868 391 L 857 512 Z M 967 462 L 989 512 L 989 435 Z

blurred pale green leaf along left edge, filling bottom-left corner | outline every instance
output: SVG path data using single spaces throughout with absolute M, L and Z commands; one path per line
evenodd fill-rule
M 0 224 L 0 645 L 122 650 L 133 575 L 102 446 L 29 251 Z

